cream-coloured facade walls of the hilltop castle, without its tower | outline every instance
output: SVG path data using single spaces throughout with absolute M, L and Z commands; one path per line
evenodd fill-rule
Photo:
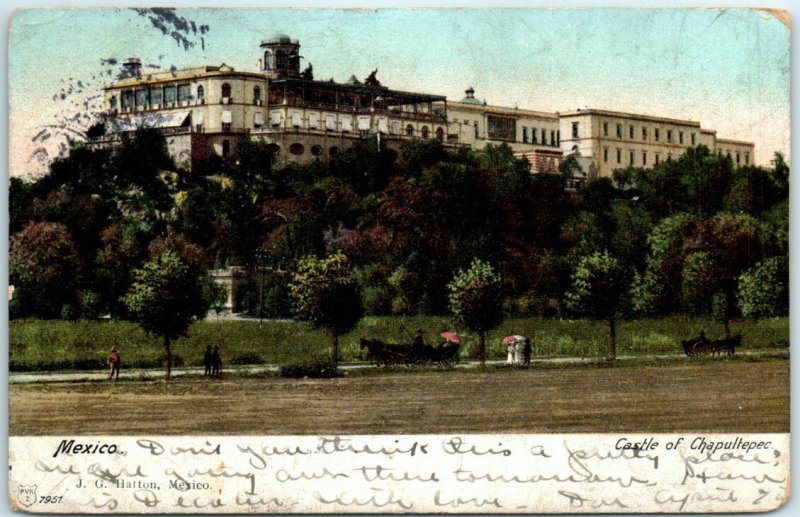
M 226 83 L 231 92 L 223 97 Z M 188 99 L 172 104 L 162 99 L 158 106 L 122 109 L 123 91 L 177 85 L 189 86 Z M 202 99 L 198 95 L 201 86 Z M 260 99 L 254 96 L 256 87 L 260 89 Z M 210 153 L 222 156 L 226 149 L 231 152 L 241 138 L 275 144 L 280 160 L 308 161 L 327 158 L 360 138 L 377 138 L 378 133 L 384 145 L 390 147 L 399 147 L 411 138 L 439 138 L 448 145 L 478 150 L 505 143 L 518 155 L 532 157 L 529 161 L 541 164 L 543 170 L 552 168 L 552 152 L 566 155 L 578 151 L 581 159 L 591 165 L 587 171 L 590 177 L 608 177 L 614 169 L 631 165 L 652 167 L 701 144 L 730 155 L 740 166 L 751 164 L 754 156 L 752 143 L 717 139 L 715 131 L 701 129 L 698 122 L 688 120 L 604 110 L 558 114 L 479 102 L 437 102 L 431 106 L 433 112 L 427 105 L 418 105 L 416 110 L 404 106 L 402 111 L 381 112 L 268 105 L 268 87 L 263 74 L 236 72 L 222 65 L 118 81 L 106 87 L 104 100 L 107 111 L 120 117 L 190 111 L 189 128 L 166 128 L 164 132 L 176 161 L 192 166 Z M 116 96 L 116 107 L 112 106 L 112 96 Z M 134 94 L 134 100 L 136 97 Z M 445 109 L 446 120 L 437 116 Z M 497 127 L 501 128 L 499 132 Z

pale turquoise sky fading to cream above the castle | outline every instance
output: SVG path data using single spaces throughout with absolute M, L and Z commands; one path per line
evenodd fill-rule
M 317 79 L 363 80 L 543 111 L 699 121 L 789 155 L 789 30 L 746 9 L 21 10 L 9 41 L 9 166 L 37 175 L 91 120 L 125 58 L 149 69 L 258 69 L 259 43 L 299 39 Z M 192 25 L 192 23 L 194 25 Z M 166 33 L 158 27 L 164 28 Z M 104 61 L 105 60 L 105 61 Z

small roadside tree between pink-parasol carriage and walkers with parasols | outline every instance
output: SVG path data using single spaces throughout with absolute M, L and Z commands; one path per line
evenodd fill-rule
M 486 332 L 503 322 L 503 294 L 500 275 L 479 259 L 469 269 L 459 270 L 447 285 L 450 310 L 458 324 L 478 332 L 481 366 L 486 364 Z

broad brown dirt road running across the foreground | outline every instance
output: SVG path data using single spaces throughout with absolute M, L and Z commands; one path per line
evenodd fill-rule
M 788 432 L 789 361 L 9 386 L 11 435 Z

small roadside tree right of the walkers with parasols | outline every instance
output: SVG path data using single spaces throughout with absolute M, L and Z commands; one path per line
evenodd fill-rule
M 617 320 L 622 315 L 629 280 L 626 270 L 608 252 L 583 257 L 572 275 L 566 294 L 572 312 L 608 322 L 611 336 L 608 359 L 617 356 Z

